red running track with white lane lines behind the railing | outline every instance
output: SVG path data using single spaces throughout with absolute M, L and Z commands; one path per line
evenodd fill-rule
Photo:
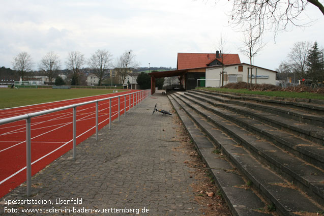
M 0 119 L 137 91 L 130 90 L 107 95 L 0 110 Z M 125 111 L 124 104 L 125 97 L 123 96 L 120 97 L 121 115 Z M 133 95 L 131 95 L 131 107 L 133 107 Z M 96 103 L 79 106 L 76 110 L 76 144 L 79 144 L 96 133 Z M 98 110 L 98 128 L 101 129 L 109 123 L 109 100 L 99 102 Z M 126 97 L 126 111 L 128 110 L 129 96 Z M 111 100 L 111 115 L 112 120 L 118 117 L 118 98 Z M 32 175 L 35 175 L 49 163 L 72 149 L 72 119 L 72 108 L 32 118 Z M 26 181 L 25 130 L 25 120 L 0 125 L 0 198 Z

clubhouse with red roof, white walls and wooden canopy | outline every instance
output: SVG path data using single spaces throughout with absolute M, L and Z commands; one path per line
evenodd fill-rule
M 177 70 L 152 72 L 151 94 L 155 92 L 155 80 L 162 77 L 178 76 L 180 89 L 191 90 L 199 87 L 222 86 L 229 82 L 249 82 L 276 84 L 276 71 L 241 63 L 239 54 L 221 53 L 178 53 Z M 224 74 L 220 72 L 224 71 Z M 249 74 L 248 74 L 249 72 Z M 255 79 L 256 75 L 256 79 Z

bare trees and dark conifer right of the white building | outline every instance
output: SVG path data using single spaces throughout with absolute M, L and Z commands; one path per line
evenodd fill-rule
M 309 41 L 296 42 L 287 54 L 287 59 L 282 61 L 278 71 L 279 79 L 293 77 L 294 81 L 311 79 L 324 81 L 323 48 L 317 42 L 313 45 Z M 281 77 L 280 77 L 281 76 Z

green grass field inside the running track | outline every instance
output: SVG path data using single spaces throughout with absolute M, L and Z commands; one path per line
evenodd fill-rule
M 112 93 L 112 89 L 0 89 L 0 109 Z M 123 91 L 123 89 L 118 89 Z

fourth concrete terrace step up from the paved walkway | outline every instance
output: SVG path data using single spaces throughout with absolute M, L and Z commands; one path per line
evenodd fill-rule
M 245 116 L 233 113 L 227 109 L 219 107 L 216 108 L 213 106 L 214 102 L 209 101 L 209 99 L 203 99 L 200 96 L 191 98 L 190 96 L 188 94 L 183 95 L 183 97 L 186 97 L 188 100 L 197 103 L 204 109 L 212 111 L 219 116 L 226 117 L 227 120 L 230 120 L 233 123 L 244 127 L 246 130 L 252 133 L 256 133 L 269 141 L 272 141 L 279 147 L 291 152 L 293 155 L 306 160 L 308 163 L 324 169 L 324 148 L 321 145 L 310 142 L 308 140 L 303 140 L 300 137 L 293 136 L 292 134 L 273 128 L 271 126 L 263 125 L 258 120 L 246 118 Z M 196 99 L 201 100 L 201 102 L 197 101 Z

